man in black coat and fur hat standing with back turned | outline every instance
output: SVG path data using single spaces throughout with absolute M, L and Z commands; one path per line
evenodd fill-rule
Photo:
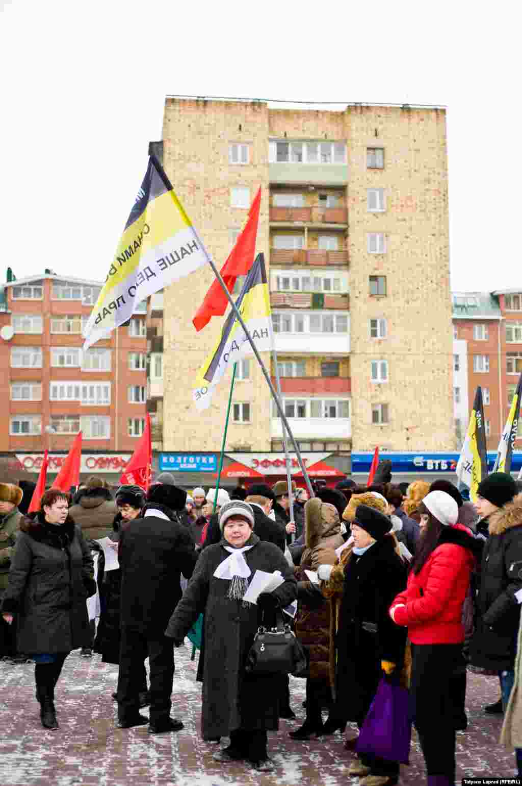
M 164 630 L 181 598 L 181 573 L 192 576 L 197 555 L 188 529 L 177 511 L 187 494 L 176 486 L 150 487 L 141 516 L 122 526 L 118 556 L 122 570 L 119 657 L 118 727 L 143 725 L 139 690 L 144 659 L 150 667 L 150 719 L 148 732 L 178 731 L 181 721 L 170 718 L 174 676 L 172 642 Z

